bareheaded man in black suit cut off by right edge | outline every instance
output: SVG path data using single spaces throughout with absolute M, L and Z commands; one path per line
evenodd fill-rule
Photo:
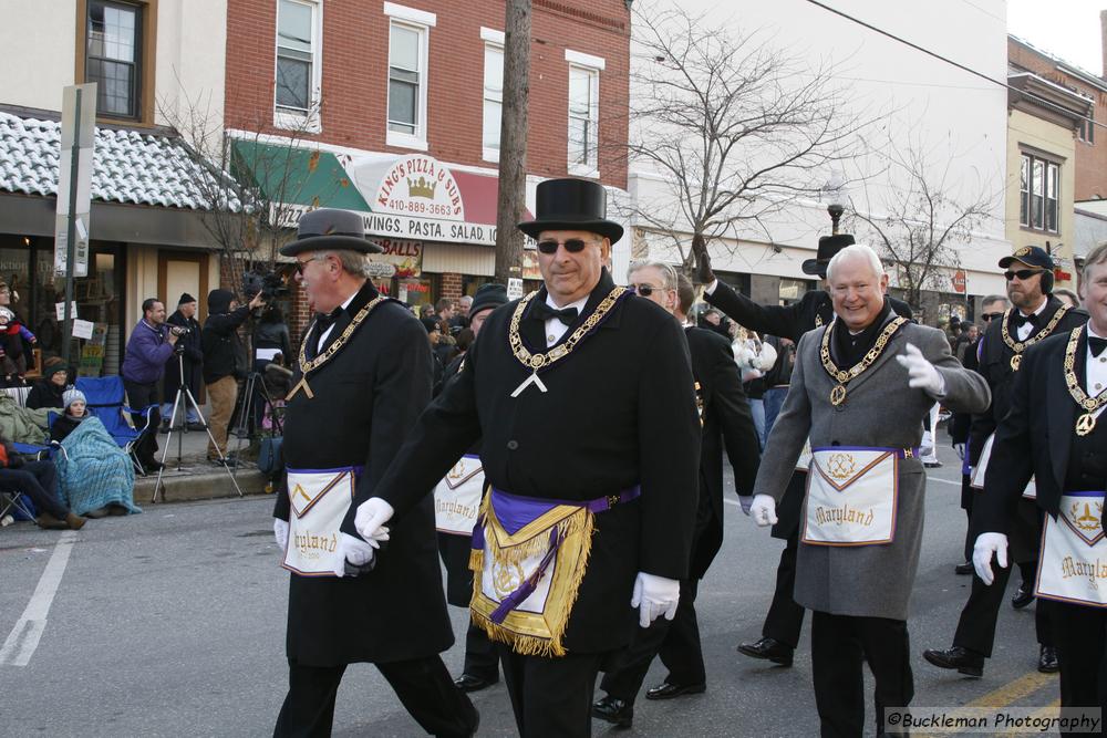
M 1008 412 L 995 432 L 984 491 L 974 502 L 980 536 L 973 564 L 982 582 L 1003 596 L 1008 537 L 1032 476 L 1033 502 L 1045 517 L 1034 591 L 1051 605 L 1066 708 L 1107 715 L 1107 589 L 1104 588 L 1104 493 L 1107 490 L 1107 245 L 1084 263 L 1083 325 L 1023 353 L 1007 393 Z M 993 570 L 996 558 L 1000 569 Z M 1014 559 L 1017 561 L 1017 559 Z M 975 590 L 975 588 L 974 588 Z M 1085 724 L 1085 735 L 1088 726 Z M 1103 723 L 1095 726 L 1103 735 Z M 1075 735 L 1062 729 L 1063 735 Z

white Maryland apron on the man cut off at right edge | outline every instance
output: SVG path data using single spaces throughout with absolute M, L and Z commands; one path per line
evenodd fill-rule
M 1057 519 L 1046 516 L 1034 593 L 1093 607 L 1107 607 L 1107 543 L 1104 492 L 1066 492 Z

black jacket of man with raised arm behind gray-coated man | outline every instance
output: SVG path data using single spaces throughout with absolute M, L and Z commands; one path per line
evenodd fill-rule
M 826 325 L 834 320 L 834 305 L 826 290 L 809 290 L 799 302 L 790 305 L 762 305 L 744 294 L 718 281 L 712 294 L 704 299 L 715 305 L 731 320 L 751 331 L 766 335 L 777 335 L 799 343 L 800 336 L 819 325 Z M 913 319 L 911 306 L 902 300 L 888 295 L 888 301 L 897 315 Z

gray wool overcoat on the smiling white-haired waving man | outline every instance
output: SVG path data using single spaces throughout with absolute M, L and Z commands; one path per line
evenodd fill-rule
M 893 358 L 906 352 L 908 342 L 918 346 L 945 380 L 945 395 L 941 398 L 945 407 L 962 413 L 987 409 L 991 394 L 984 378 L 962 367 L 953 357 L 945 334 L 915 323 L 896 332 L 880 357 L 849 382 L 846 402 L 835 407 L 830 404 L 830 391 L 837 382 L 819 358 L 819 345 L 828 328 L 809 331 L 799 341 L 792 388 L 762 457 L 755 495 L 770 495 L 780 501 L 808 435 L 811 448 L 918 447 L 922 440 L 922 418 L 934 399 L 922 389 L 909 387 L 907 370 Z M 907 620 L 919 567 L 925 490 L 922 462 L 918 458 L 901 459 L 891 543 L 828 547 L 800 542 L 796 602 L 808 610 L 835 615 Z M 804 516 L 806 511 L 805 499 Z

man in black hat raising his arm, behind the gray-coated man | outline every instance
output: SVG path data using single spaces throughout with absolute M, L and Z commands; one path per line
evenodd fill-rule
M 847 246 L 853 243 L 850 233 L 835 233 L 819 238 L 819 249 L 815 259 L 807 259 L 801 264 L 805 274 L 824 280 L 821 290 L 809 290 L 799 302 L 790 305 L 762 305 L 744 294 L 734 291 L 730 284 L 715 279 L 711 269 L 711 257 L 706 251 L 696 254 L 696 277 L 704 285 L 704 299 L 718 308 L 743 328 L 757 331 L 762 335 L 775 335 L 799 343 L 800 336 L 816 328 L 827 325 L 834 320 L 834 304 L 829 288 L 826 287 L 827 264 Z M 891 295 L 888 303 L 892 311 L 911 319 L 911 306 Z M 779 395 L 779 403 L 787 395 L 787 387 L 770 389 Z M 767 402 L 773 402 L 766 395 Z M 776 405 L 779 408 L 779 405 Z M 766 413 L 768 415 L 768 413 Z M 776 413 L 772 414 L 776 417 Z M 765 438 L 768 438 L 772 427 L 766 425 Z M 779 522 L 773 526 L 773 538 L 787 541 L 780 551 L 780 562 L 776 569 L 776 589 L 765 623 L 762 626 L 762 637 L 753 643 L 738 645 L 738 653 L 752 658 L 765 658 L 782 666 L 792 666 L 793 653 L 799 643 L 799 632 L 804 626 L 804 609 L 796 604 L 793 590 L 796 584 L 796 551 L 799 544 L 799 506 L 804 500 L 804 489 L 807 486 L 806 460 L 788 485 L 787 493 L 777 510 Z

